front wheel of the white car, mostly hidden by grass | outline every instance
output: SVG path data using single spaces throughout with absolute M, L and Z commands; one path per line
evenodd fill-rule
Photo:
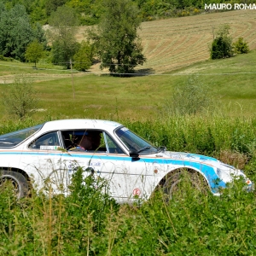
M 207 194 L 209 186 L 206 179 L 199 172 L 182 169 L 171 172 L 166 177 L 163 191 L 166 195 L 166 201 L 174 198 L 183 200 L 191 194 L 199 195 L 199 197 L 201 194 Z

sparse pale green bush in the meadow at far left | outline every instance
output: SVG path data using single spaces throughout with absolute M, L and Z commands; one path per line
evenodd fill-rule
M 25 76 L 16 78 L 13 84 L 3 92 L 3 105 L 9 115 L 24 119 L 36 111 L 38 99 L 32 88 L 32 82 Z

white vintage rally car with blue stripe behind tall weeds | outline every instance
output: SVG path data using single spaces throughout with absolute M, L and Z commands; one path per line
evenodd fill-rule
M 90 133 L 100 144 L 92 150 L 77 147 Z M 49 121 L 0 136 L 0 185 L 9 180 L 18 197 L 51 185 L 56 193 L 68 193 L 73 172 L 108 181 L 109 195 L 118 202 L 147 200 L 157 188 L 172 198 L 189 177 L 195 189 L 219 195 L 234 177 L 242 177 L 247 189 L 252 182 L 243 172 L 211 157 L 155 148 L 124 125 L 99 119 Z

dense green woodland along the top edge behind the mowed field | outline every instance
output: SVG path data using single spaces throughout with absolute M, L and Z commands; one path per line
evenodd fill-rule
M 49 23 L 50 15 L 61 6 L 72 8 L 79 17 L 79 25 L 94 25 L 100 22 L 106 12 L 103 0 L 2 0 L 7 9 L 15 5 L 23 5 L 32 23 L 40 22 L 42 25 Z M 205 3 L 233 3 L 223 0 L 132 0 L 139 10 L 138 15 L 143 20 L 155 20 L 175 16 L 197 15 L 205 10 Z M 244 3 L 237 0 L 235 3 Z M 246 3 L 253 3 L 247 0 Z

